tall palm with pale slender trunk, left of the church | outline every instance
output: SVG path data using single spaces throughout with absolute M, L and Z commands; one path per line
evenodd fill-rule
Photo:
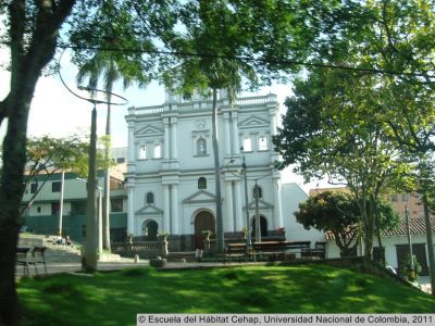
M 120 13 L 113 1 L 107 1 L 103 11 Z M 104 16 L 111 16 L 107 14 Z M 134 18 L 132 15 L 124 15 L 124 25 L 113 24 L 111 21 L 98 21 L 92 26 L 87 26 L 92 35 L 103 35 L 91 51 L 91 55 L 82 53 L 75 58 L 79 71 L 76 79 L 80 85 L 87 80 L 87 87 L 96 89 L 102 87 L 107 93 L 108 111 L 105 121 L 105 161 L 110 162 L 110 136 L 111 136 L 111 101 L 115 83 L 121 82 L 124 90 L 136 84 L 145 87 L 151 82 L 154 67 L 153 59 L 145 57 L 140 51 L 123 51 L 123 49 L 154 49 L 150 38 L 138 37 L 132 34 Z M 120 36 L 120 37 L 117 37 Z M 108 50 L 104 50 L 108 49 Z M 115 51 L 114 51 L 115 50 Z M 102 85 L 99 86 L 99 83 Z M 103 248 L 110 251 L 110 168 L 104 171 L 104 202 L 103 202 Z

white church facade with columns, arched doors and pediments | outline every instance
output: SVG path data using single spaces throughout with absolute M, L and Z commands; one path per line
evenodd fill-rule
M 283 184 L 274 168 L 278 155 L 271 137 L 277 130 L 277 118 L 275 95 L 238 98 L 231 104 L 225 92 L 220 92 L 217 139 L 225 238 L 240 237 L 247 229 L 252 233 L 257 183 L 262 238 L 277 237 L 284 229 L 288 240 L 324 241 L 324 234 L 308 231 L 296 223 L 293 213 L 308 196 L 296 184 Z M 166 93 L 162 105 L 128 109 L 128 234 L 150 240 L 169 234 L 178 239 L 178 250 L 201 248 L 203 231 L 215 234 L 211 120 L 212 100 L 200 96 L 185 101 Z

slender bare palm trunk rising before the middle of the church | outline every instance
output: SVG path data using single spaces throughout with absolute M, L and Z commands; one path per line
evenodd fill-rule
M 217 89 L 213 88 L 213 114 L 212 114 L 212 139 L 214 154 L 214 179 L 216 191 L 216 249 L 217 252 L 224 250 L 224 227 L 222 221 L 222 196 L 221 196 L 221 166 L 219 164 L 219 142 L 217 142 Z

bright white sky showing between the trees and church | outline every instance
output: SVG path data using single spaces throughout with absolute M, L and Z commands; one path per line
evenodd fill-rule
M 4 62 L 9 57 L 9 51 L 0 48 L 0 62 Z M 61 62 L 62 77 L 66 85 L 84 97 L 86 93 L 75 88 L 76 70 L 70 64 L 67 58 Z M 0 67 L 0 100 L 9 92 L 10 73 Z M 127 124 L 124 116 L 127 114 L 129 106 L 148 106 L 160 105 L 165 100 L 164 88 L 158 83 L 151 83 L 144 89 L 130 87 L 124 90 L 120 85 L 114 92 L 121 95 L 128 100 L 123 106 L 113 106 L 112 109 L 112 146 L 127 146 Z M 256 93 L 249 95 L 268 95 L 275 93 L 281 105 L 281 113 L 284 114 L 284 100 L 291 93 L 289 85 L 273 85 L 263 87 Z M 92 104 L 73 96 L 65 86 L 62 85 L 58 75 L 41 76 L 36 86 L 34 100 L 30 105 L 30 114 L 28 118 L 27 135 L 29 137 L 40 137 L 49 135 L 50 137 L 67 137 L 73 134 L 87 134 L 90 130 L 90 112 Z M 97 134 L 102 136 L 105 131 L 105 105 L 97 106 Z M 0 126 L 0 140 L 4 137 L 7 125 Z M 283 172 L 284 183 L 297 183 L 303 190 L 315 188 L 318 181 L 303 185 L 300 176 L 291 173 L 290 168 Z M 325 181 L 320 183 L 323 187 L 327 187 Z

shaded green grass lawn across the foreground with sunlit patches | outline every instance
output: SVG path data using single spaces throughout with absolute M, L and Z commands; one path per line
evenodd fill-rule
M 18 283 L 25 325 L 136 325 L 136 313 L 435 313 L 435 298 L 326 265 L 152 268 Z

